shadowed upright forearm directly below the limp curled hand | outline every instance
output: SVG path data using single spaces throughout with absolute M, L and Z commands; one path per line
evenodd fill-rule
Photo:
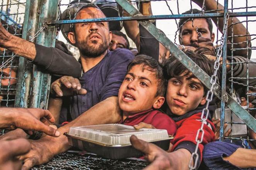
M 49 98 L 48 110 L 53 114 L 55 123 L 58 124 L 60 120 L 60 111 L 61 111 L 62 99 L 61 98 Z

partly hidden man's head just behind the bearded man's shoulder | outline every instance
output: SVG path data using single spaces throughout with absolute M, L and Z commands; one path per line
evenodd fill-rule
M 130 43 L 123 32 L 121 31 L 111 31 L 111 32 L 112 32 L 112 39 L 108 47 L 110 51 L 113 51 L 117 48 L 130 49 Z

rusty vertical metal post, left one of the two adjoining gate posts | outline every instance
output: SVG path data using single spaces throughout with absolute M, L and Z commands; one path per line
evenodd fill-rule
M 38 27 L 39 5 L 41 0 L 27 0 L 26 12 L 24 16 L 24 24 L 22 38 L 29 40 L 35 34 Z M 20 57 L 18 69 L 18 82 L 15 96 L 15 107 L 28 107 L 29 95 L 31 89 L 33 65 L 26 58 Z

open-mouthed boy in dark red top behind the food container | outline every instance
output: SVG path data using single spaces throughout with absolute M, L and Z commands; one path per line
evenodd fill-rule
M 118 103 L 123 110 L 119 123 L 134 126 L 144 122 L 157 129 L 166 129 L 170 135 L 175 134 L 175 122 L 157 110 L 164 103 L 165 93 L 166 80 L 160 63 L 146 55 L 136 56 L 128 65 L 119 89 Z

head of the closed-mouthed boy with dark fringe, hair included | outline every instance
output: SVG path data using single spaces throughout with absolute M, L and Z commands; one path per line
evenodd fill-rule
M 185 53 L 205 73 L 209 76 L 213 74 L 213 62 L 206 56 L 190 50 Z M 206 103 L 207 88 L 178 59 L 167 59 L 164 67 L 168 80 L 166 102 L 173 114 L 181 116 Z

